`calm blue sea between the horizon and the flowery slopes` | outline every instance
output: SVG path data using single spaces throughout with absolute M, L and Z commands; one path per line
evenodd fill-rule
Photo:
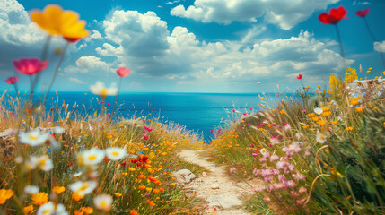
M 267 99 L 261 100 L 258 95 Z M 93 114 L 101 107 L 101 99 L 90 92 L 58 92 L 58 96 L 59 106 L 65 101 L 71 108 L 76 102 L 78 113 Z M 255 113 L 260 110 L 259 104 L 269 101 L 271 105 L 282 97 L 276 97 L 274 93 L 124 93 L 118 95 L 116 117 L 160 116 L 163 123 L 185 125 L 188 130 L 210 138 L 213 137 L 210 131 L 218 125 L 240 118 L 243 113 Z M 109 97 L 105 101 L 109 111 L 114 99 Z M 57 95 L 50 93 L 47 107 L 56 100 Z M 232 113 L 233 109 L 237 112 Z

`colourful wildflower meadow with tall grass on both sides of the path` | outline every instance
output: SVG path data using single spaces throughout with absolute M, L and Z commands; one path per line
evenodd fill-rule
M 5 90 L 0 97 L 1 214 L 203 213 L 205 203 L 173 173 L 207 170 L 181 159 L 182 150 L 205 150 L 232 180 L 249 184 L 244 207 L 254 214 L 385 213 L 385 71 L 346 67 L 343 77 L 332 74 L 328 86 L 317 87 L 305 86 L 299 74 L 294 97 L 278 90 L 275 98 L 260 95 L 257 113 L 230 109 L 237 120 L 215 126 L 206 144 L 157 117 L 114 117 L 126 67 L 116 70 L 117 88 L 90 87 L 100 97 L 93 114 L 78 113 L 75 107 L 84 104 L 70 107 L 59 94 L 46 106 L 66 52 L 59 53 L 47 91 L 35 95 L 50 39 L 61 37 L 67 47 L 89 32 L 77 13 L 57 5 L 30 15 L 48 39 L 40 58 L 13 61 L 31 90 L 19 91 L 19 77 L 9 77 L 15 96 Z M 337 26 L 345 15 L 339 7 L 319 21 Z M 115 97 L 112 110 L 107 97 Z

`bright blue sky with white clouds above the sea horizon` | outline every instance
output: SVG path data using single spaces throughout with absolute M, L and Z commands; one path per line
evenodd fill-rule
M 42 55 L 47 34 L 29 12 L 48 4 L 79 13 L 90 31 L 66 50 L 52 90 L 87 91 L 98 81 L 116 86 L 119 66 L 131 70 L 123 92 L 294 91 L 302 86 L 300 73 L 314 87 L 346 66 L 384 71 L 383 0 L 1 0 L 0 91 L 12 89 L 3 80 L 14 75 L 19 89 L 29 89 L 29 77 L 12 62 Z M 345 60 L 334 26 L 318 20 L 340 5 L 349 18 L 337 24 Z M 376 45 L 355 15 L 366 8 Z M 47 89 L 59 60 L 55 50 L 64 45 L 61 38 L 50 43 L 37 90 Z

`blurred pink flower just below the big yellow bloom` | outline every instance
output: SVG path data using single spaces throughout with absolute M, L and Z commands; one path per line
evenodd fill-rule
M 38 58 L 21 58 L 18 61 L 13 61 L 13 66 L 19 73 L 32 75 L 45 70 L 48 61 L 40 62 Z

